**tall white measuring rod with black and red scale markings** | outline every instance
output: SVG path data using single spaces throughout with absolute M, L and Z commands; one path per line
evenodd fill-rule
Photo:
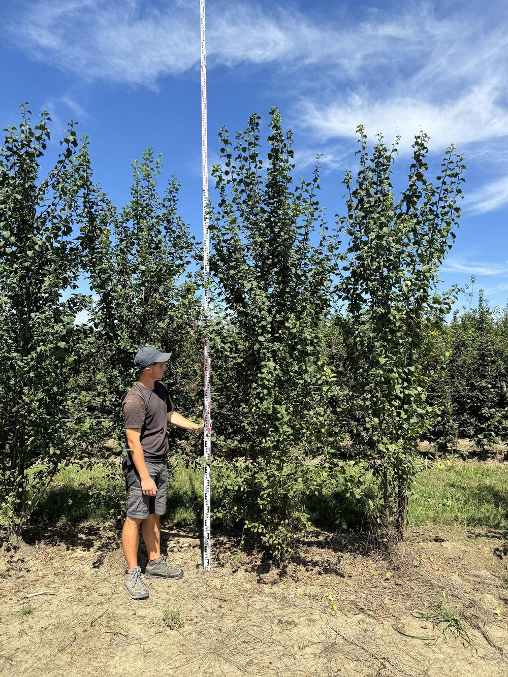
M 208 230 L 208 140 L 207 140 L 207 58 L 205 46 L 205 0 L 200 0 L 201 24 L 201 141 L 203 156 L 203 274 L 205 279 L 205 472 L 203 473 L 203 571 L 211 569 L 210 544 L 210 458 L 211 458 L 211 381 L 209 348 L 210 242 Z

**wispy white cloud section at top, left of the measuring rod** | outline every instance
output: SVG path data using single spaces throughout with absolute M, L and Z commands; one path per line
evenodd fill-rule
M 195 64 L 195 14 L 178 1 L 162 12 L 140 0 L 35 0 L 12 30 L 35 56 L 83 79 L 154 87 Z

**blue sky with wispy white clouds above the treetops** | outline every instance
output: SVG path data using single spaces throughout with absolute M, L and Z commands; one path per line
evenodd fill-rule
M 180 213 L 200 238 L 198 0 L 4 0 L 0 123 L 19 104 L 47 106 L 58 139 L 66 122 L 91 138 L 96 180 L 119 206 L 130 163 L 163 153 L 182 183 Z M 210 161 L 217 131 L 266 123 L 278 106 L 295 138 L 297 175 L 322 154 L 321 201 L 343 211 L 345 169 L 355 169 L 355 130 L 430 135 L 438 172 L 454 143 L 468 166 L 457 240 L 445 285 L 471 275 L 492 305 L 508 299 L 508 3 L 492 0 L 352 2 L 207 0 Z

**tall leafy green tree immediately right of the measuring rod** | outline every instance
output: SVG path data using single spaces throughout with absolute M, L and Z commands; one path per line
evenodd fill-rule
M 221 130 L 222 163 L 212 170 L 218 200 L 211 213 L 211 271 L 218 283 L 215 311 L 222 313 L 214 354 L 229 376 L 223 380 L 215 364 L 214 397 L 224 401 L 224 413 L 214 427 L 227 426 L 233 438 L 219 436 L 216 454 L 242 458 L 241 481 L 228 485 L 236 491 L 228 512 L 282 559 L 305 523 L 303 458 L 325 444 L 328 371 L 318 327 L 333 265 L 318 234 L 324 223 L 317 166 L 310 181 L 293 181 L 291 131 L 282 129 L 276 108 L 265 166 L 259 120 L 253 114 L 235 144 Z

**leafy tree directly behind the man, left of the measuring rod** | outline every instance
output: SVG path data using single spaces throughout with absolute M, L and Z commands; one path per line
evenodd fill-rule
M 151 150 L 133 162 L 131 200 L 117 211 L 93 184 L 87 139 L 76 165 L 83 181 L 83 213 L 77 242 L 93 297 L 81 327 L 81 368 L 71 379 L 76 393 L 73 424 L 100 416 L 121 437 L 119 402 L 137 378 L 133 356 L 143 345 L 172 353 L 171 396 L 196 414 L 200 406 L 200 304 L 190 263 L 196 248 L 177 213 L 179 184 L 172 177 L 163 195 L 157 177 L 161 157 Z M 77 426 L 80 428 L 79 426 Z M 87 432 L 89 435 L 89 432 Z

